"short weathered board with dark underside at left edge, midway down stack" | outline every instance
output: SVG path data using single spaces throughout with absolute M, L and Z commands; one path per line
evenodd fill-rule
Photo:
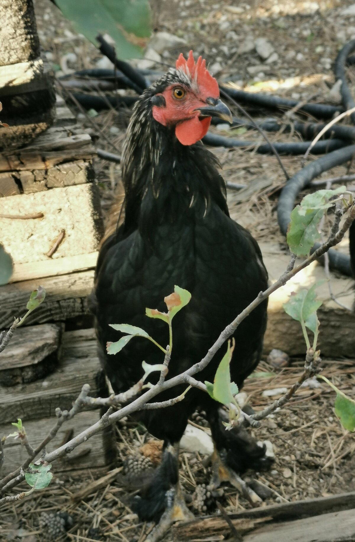
M 63 327 L 63 324 L 42 324 L 18 328 L 0 353 L 0 384 L 26 384 L 53 371 L 58 362 Z

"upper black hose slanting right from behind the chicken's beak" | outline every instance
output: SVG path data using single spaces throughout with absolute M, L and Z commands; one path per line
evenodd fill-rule
M 254 105 L 259 107 L 268 107 L 270 109 L 287 108 L 291 109 L 299 104 L 295 100 L 288 100 L 286 98 L 280 98 L 280 96 L 269 96 L 267 94 L 260 94 L 254 92 L 238 91 L 235 88 L 220 86 L 226 94 L 229 94 L 236 101 L 240 101 L 244 104 Z M 343 113 L 343 107 L 337 107 L 326 104 L 305 104 L 298 109 L 313 115 L 319 119 L 331 119 L 334 114 Z

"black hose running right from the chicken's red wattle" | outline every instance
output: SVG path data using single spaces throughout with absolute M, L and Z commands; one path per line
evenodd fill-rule
M 223 135 L 217 135 L 212 133 L 207 133 L 202 139 L 205 145 L 210 145 L 212 147 L 248 147 L 247 150 L 257 152 L 258 154 L 272 154 L 273 151 L 267 143 L 258 144 L 255 141 L 242 141 L 239 139 L 233 139 L 229 137 L 223 137 Z M 304 154 L 311 141 L 300 141 L 296 143 L 274 143 L 274 147 L 279 154 L 288 154 L 289 156 L 298 156 L 299 154 Z M 324 139 L 318 141 L 312 147 L 313 154 L 324 154 L 325 152 L 334 151 L 335 149 L 340 149 L 346 145 L 343 139 Z

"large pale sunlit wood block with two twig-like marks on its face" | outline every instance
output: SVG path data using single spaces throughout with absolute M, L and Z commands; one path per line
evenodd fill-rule
M 0 239 L 15 265 L 86 255 L 98 249 L 103 225 L 95 185 L 0 198 L 0 215 L 38 212 L 44 216 L 33 220 L 0 217 Z M 62 242 L 53 255 L 48 255 L 62 231 Z

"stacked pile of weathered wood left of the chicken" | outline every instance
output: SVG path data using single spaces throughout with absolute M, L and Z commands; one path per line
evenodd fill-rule
M 55 99 L 40 57 L 32 2 L 3 4 L 0 37 L 14 28 L 18 47 L 1 40 L 0 118 L 9 127 L 0 129 L 0 242 L 14 269 L 10 282 L 0 287 L 0 330 L 24 315 L 39 285 L 46 299 L 0 353 L 0 436 L 11 433 L 11 422 L 21 418 L 36 446 L 55 424 L 55 408 L 69 409 L 83 384 L 91 385 L 93 396 L 108 393 L 86 301 L 103 224 L 91 135 L 76 124 L 63 100 Z M 48 449 L 99 417 L 97 410 L 81 412 L 63 425 Z M 109 428 L 54 470 L 103 466 L 114 451 Z M 18 440 L 8 439 L 2 474 L 20 466 L 24 453 Z

